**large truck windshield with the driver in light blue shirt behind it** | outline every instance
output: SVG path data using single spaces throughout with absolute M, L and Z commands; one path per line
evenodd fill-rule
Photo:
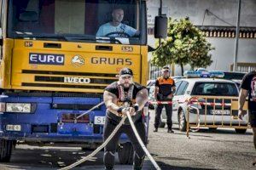
M 8 37 L 145 44 L 146 5 L 139 0 L 10 0 Z

